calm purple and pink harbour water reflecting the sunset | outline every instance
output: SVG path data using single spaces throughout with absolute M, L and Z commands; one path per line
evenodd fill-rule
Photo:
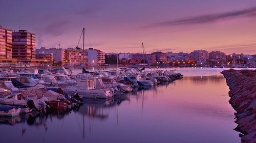
M 177 69 L 183 79 L 109 101 L 87 99 L 78 109 L 36 118 L 1 118 L 1 142 L 241 142 L 222 70 Z

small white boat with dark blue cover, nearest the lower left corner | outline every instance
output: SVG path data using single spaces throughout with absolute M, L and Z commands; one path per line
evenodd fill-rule
M 15 117 L 18 116 L 20 111 L 21 111 L 21 107 L 15 107 L 15 106 L 5 106 L 5 105 L 1 105 L 0 104 L 0 115 L 1 116 L 8 116 L 8 117 Z

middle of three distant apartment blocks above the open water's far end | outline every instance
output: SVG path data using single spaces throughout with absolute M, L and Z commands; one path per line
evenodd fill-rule
M 206 50 L 194 50 L 189 53 L 191 61 L 205 61 L 209 60 L 209 52 Z

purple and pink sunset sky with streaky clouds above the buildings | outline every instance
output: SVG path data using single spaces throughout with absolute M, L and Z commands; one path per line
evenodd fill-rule
M 105 52 L 221 50 L 256 54 L 255 0 L 1 1 L 0 25 L 36 34 L 36 48 Z M 79 47 L 82 47 L 82 40 Z

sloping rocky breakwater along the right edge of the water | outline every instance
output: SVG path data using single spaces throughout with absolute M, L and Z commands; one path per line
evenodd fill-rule
M 242 142 L 256 142 L 256 70 L 225 70 L 221 72 L 229 86 L 229 103 L 237 111 L 238 127 L 234 130 Z

